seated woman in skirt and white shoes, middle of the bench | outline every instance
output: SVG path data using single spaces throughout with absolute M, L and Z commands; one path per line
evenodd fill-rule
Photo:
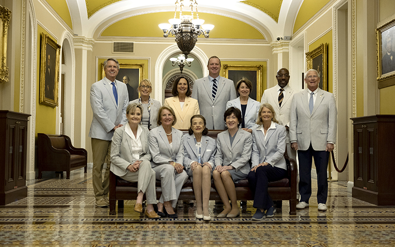
M 206 120 L 201 115 L 191 118 L 191 127 L 184 135 L 184 166 L 194 184 L 196 218 L 210 220 L 208 200 L 210 199 L 211 171 L 217 151 L 215 140 L 207 136 Z

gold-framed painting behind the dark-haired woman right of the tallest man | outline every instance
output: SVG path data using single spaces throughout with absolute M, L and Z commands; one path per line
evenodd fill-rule
M 262 90 L 262 65 L 229 65 L 224 64 L 224 77 L 232 80 L 236 84 L 243 77 L 252 82 L 250 97 L 260 101 Z

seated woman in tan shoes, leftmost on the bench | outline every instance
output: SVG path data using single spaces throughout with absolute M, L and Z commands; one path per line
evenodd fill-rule
M 143 107 L 129 104 L 126 108 L 125 124 L 114 131 L 111 142 L 110 170 L 120 178 L 137 182 L 136 212 L 143 212 L 143 195 L 146 194 L 148 218 L 159 218 L 153 204 L 157 203 L 155 171 L 151 168 L 151 154 L 148 148 L 148 128 L 141 126 Z

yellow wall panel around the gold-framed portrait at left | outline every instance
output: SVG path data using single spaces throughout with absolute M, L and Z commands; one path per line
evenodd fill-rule
M 37 94 L 36 94 L 36 137 L 37 133 L 56 134 L 56 108 L 40 104 L 40 58 L 41 58 L 41 33 L 48 34 L 40 25 L 37 28 L 37 43 L 39 50 L 37 54 Z

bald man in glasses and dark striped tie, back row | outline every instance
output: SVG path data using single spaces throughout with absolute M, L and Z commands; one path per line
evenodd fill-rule
M 263 92 L 261 104 L 269 103 L 273 106 L 276 112 L 276 119 L 278 124 L 285 126 L 287 130 L 286 143 L 287 143 L 287 155 L 289 158 L 296 161 L 296 151 L 291 148 L 289 142 L 289 111 L 291 109 L 291 103 L 295 91 L 289 82 L 289 71 L 285 68 L 279 69 L 276 75 L 277 85 L 266 89 Z

